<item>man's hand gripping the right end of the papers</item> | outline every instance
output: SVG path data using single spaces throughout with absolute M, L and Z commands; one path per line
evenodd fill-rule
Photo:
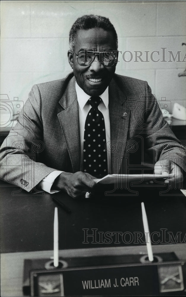
M 171 177 L 165 179 L 165 183 L 168 184 L 169 182 L 179 183 L 183 181 L 183 173 L 181 168 L 176 165 L 174 162 L 169 161 L 168 159 L 160 160 L 156 162 L 154 166 L 154 173 L 155 174 L 172 174 Z

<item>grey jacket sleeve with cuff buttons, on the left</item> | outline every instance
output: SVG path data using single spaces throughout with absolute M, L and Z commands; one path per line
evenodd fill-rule
M 44 150 L 41 117 L 41 97 L 37 85 L 33 86 L 15 128 L 0 149 L 0 178 L 31 191 L 54 168 L 36 162 Z

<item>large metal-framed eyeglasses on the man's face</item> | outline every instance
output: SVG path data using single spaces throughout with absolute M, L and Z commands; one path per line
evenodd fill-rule
M 98 56 L 98 61 L 101 62 L 105 67 L 111 67 L 117 60 L 117 51 L 115 52 L 91 52 L 82 50 L 78 54 L 74 52 L 77 62 L 81 66 L 89 66 L 94 61 L 95 57 Z

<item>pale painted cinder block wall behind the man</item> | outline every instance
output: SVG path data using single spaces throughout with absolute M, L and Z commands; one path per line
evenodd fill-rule
M 25 102 L 35 83 L 66 76 L 71 71 L 67 60 L 71 25 L 93 13 L 109 17 L 119 50 L 127 51 L 126 61 L 119 55 L 116 73 L 147 80 L 158 100 L 166 97 L 172 106 L 174 102 L 186 106 L 186 77 L 178 77 L 186 62 L 168 62 L 168 51 L 174 56 L 181 51 L 181 61 L 185 55 L 185 7 L 182 1 L 1 1 L 1 94 Z M 166 48 L 164 62 L 161 48 Z M 158 62 L 150 59 L 155 50 L 159 56 L 155 52 L 152 58 Z M 149 62 L 136 59 L 135 51 Z

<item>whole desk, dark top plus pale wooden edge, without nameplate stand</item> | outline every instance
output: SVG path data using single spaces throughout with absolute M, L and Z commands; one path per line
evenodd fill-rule
M 71 214 L 58 207 L 59 249 L 63 257 L 86 255 L 122 255 L 144 253 L 146 246 L 134 240 L 124 242 L 115 237 L 110 244 L 95 243 L 88 238 L 83 243 L 84 230 L 98 232 L 143 233 L 141 201 L 144 202 L 150 232 L 161 232 L 162 244 L 153 244 L 154 252 L 174 251 L 179 259 L 186 259 L 185 245 L 169 242 L 169 233 L 180 242 L 185 236 L 185 196 L 180 190 L 166 192 L 166 187 L 133 187 L 138 195 L 96 195 L 92 199 L 74 200 L 65 193 L 54 194 L 71 209 Z M 159 196 L 160 191 L 165 195 Z M 123 194 L 125 192 L 123 191 Z M 29 195 L 18 187 L 1 183 L 1 296 L 22 296 L 23 259 L 45 258 L 53 255 L 53 195 Z M 163 231 L 164 230 L 164 231 Z M 164 233 L 163 233 L 164 232 Z M 165 235 L 164 235 L 165 234 Z M 144 237 L 142 238 L 144 241 Z M 174 241 L 174 239 L 173 239 Z M 172 243 L 173 243 L 172 241 Z

